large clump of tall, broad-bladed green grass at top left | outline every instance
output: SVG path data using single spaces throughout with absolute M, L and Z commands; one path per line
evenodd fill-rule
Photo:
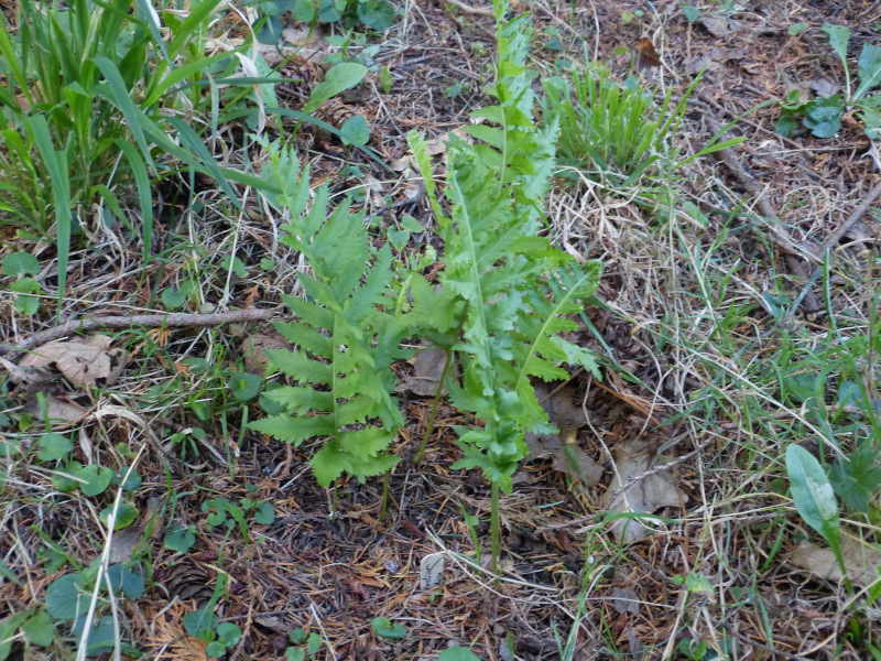
M 93 204 L 106 209 L 105 220 L 133 230 L 118 199 L 132 183 L 146 259 L 150 180 L 163 152 L 224 178 L 176 117 L 198 111 L 204 74 L 231 73 L 235 55 L 248 47 L 205 56 L 219 4 L 205 0 L 186 15 L 168 13 L 162 25 L 142 0 L 22 0 L 17 28 L 0 25 L 0 221 L 34 238 L 54 226 L 59 292 L 72 232 Z

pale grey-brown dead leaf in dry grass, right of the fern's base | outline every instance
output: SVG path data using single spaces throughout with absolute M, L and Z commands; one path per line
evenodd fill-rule
M 614 466 L 612 484 L 602 496 L 602 505 L 610 512 L 654 513 L 665 507 L 681 507 L 688 500 L 670 470 L 651 473 L 653 462 L 644 441 L 618 445 Z M 611 531 L 614 539 L 624 544 L 646 534 L 645 525 L 637 519 L 618 519 Z

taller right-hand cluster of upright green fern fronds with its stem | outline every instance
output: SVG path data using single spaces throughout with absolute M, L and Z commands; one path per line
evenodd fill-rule
M 454 139 L 448 145 L 450 217 L 440 212 L 434 186 L 426 185 L 445 246 L 439 279 L 464 307 L 453 346 L 461 376 L 448 379 L 447 389 L 455 405 L 483 422 L 457 429 L 464 456 L 453 467 L 479 467 L 490 481 L 497 571 L 500 490 L 511 491 L 511 476 L 527 454 L 525 432 L 553 429 L 530 377 L 567 378 L 559 367 L 564 361 L 597 373 L 592 355 L 559 334 L 575 327 L 564 315 L 580 311 L 577 301 L 594 292 L 600 270 L 598 262 L 568 263 L 572 258 L 539 236 L 557 126 L 540 129 L 533 121 L 535 98 L 525 68 L 532 26 L 525 17 L 503 23 L 507 9 L 505 0 L 494 1 L 499 65 L 490 94 L 499 102 L 472 113 L 488 123 L 466 129 L 482 142 Z M 416 134 L 410 141 L 427 184 L 425 143 Z

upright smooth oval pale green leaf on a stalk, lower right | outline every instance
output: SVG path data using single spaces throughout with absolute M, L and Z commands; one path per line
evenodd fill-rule
M 792 499 L 802 519 L 826 540 L 841 571 L 847 573 L 841 556 L 838 502 L 823 466 L 804 447 L 792 443 L 786 448 L 786 473 Z

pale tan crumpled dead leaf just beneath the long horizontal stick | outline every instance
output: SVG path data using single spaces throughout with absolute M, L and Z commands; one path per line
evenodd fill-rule
M 112 386 L 129 359 L 126 349 L 110 348 L 112 343 L 107 335 L 51 342 L 33 349 L 19 367 L 43 369 L 55 365 L 74 386 L 93 387 L 98 379 Z

